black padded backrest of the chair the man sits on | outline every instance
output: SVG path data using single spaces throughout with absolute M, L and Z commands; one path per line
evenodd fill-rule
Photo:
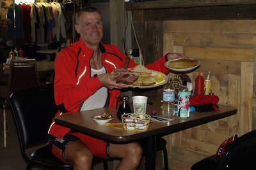
M 33 87 L 13 92 L 10 105 L 22 156 L 26 160 L 25 149 L 28 146 L 47 141 L 49 126 L 58 111 L 53 87 Z

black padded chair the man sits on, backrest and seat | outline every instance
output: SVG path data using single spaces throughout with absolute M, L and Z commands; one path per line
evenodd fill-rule
M 22 158 L 27 163 L 26 169 L 36 166 L 47 169 L 73 169 L 71 164 L 65 164 L 49 152 L 47 146 L 47 131 L 58 110 L 53 88 L 35 87 L 13 92 L 10 96 L 10 105 L 17 127 Z M 38 144 L 45 146 L 35 150 L 29 157 L 26 149 Z M 108 169 L 107 162 L 104 162 L 104 166 L 104 169 Z

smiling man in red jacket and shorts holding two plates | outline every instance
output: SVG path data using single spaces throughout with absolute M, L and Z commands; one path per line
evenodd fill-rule
M 100 11 L 87 7 L 77 13 L 76 31 L 80 39 L 64 48 L 55 60 L 54 95 L 58 113 L 92 110 L 115 106 L 120 89 L 126 88 L 115 82 L 113 69 L 124 67 L 124 53 L 114 45 L 101 42 L 103 36 Z M 148 69 L 167 74 L 164 62 L 175 58 L 186 58 L 180 53 L 168 53 Z M 129 62 L 128 67 L 137 64 Z M 137 169 L 140 165 L 142 148 L 139 143 L 113 144 L 81 134 L 52 120 L 49 129 L 49 147 L 63 162 L 69 162 L 74 169 L 91 169 L 93 155 L 97 157 L 122 158 L 116 169 Z

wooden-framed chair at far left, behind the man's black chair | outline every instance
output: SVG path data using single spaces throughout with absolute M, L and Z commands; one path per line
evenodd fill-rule
M 10 73 L 8 78 L 8 90 L 6 98 L 3 101 L 3 131 L 4 131 L 4 148 L 7 146 L 6 141 L 6 108 L 9 108 L 9 96 L 12 92 L 26 89 L 29 87 L 38 87 L 38 73 L 36 71 L 35 59 L 11 60 Z

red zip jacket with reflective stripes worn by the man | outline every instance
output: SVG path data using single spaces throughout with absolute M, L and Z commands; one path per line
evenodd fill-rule
M 120 52 L 116 46 L 105 45 L 100 42 L 100 51 L 102 52 L 102 64 L 107 73 L 113 72 L 115 67 L 124 66 L 127 56 Z M 88 48 L 80 38 L 76 43 L 63 48 L 56 57 L 54 96 L 59 108 L 56 115 L 79 111 L 81 104 L 103 86 L 97 76 L 90 77 L 90 58 L 92 55 L 93 50 Z M 167 55 L 146 67 L 167 74 L 169 69 L 164 67 L 166 61 Z M 131 68 L 136 65 L 131 60 L 128 67 Z M 108 106 L 115 106 L 116 95 L 120 96 L 120 90 L 108 90 L 108 95 Z M 49 133 L 61 139 L 69 130 L 67 127 L 52 124 Z

